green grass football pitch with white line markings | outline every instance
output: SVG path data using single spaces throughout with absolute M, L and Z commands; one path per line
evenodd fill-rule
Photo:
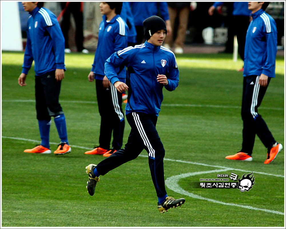
M 253 161 L 225 156 L 241 149 L 242 82 L 227 54 L 177 55 L 179 87 L 164 91 L 157 130 L 166 150 L 167 192 L 185 198 L 177 209 L 160 214 L 147 153 L 105 176 L 94 196 L 86 190 L 85 167 L 101 155 L 85 155 L 98 144 L 100 116 L 94 82 L 87 79 L 93 54 L 68 54 L 60 102 L 72 152 L 63 156 L 23 153 L 40 143 L 34 102 L 34 72 L 18 85 L 22 52 L 2 52 L 2 226 L 7 227 L 285 227 L 284 149 L 265 165 L 267 150 L 256 139 Z M 285 147 L 284 57 L 277 57 L 259 113 Z M 125 106 L 125 105 L 124 105 Z M 124 143 L 130 127 L 126 122 Z M 59 138 L 54 123 L 51 150 Z M 200 179 L 253 172 L 249 192 L 194 188 Z M 179 176 L 180 175 L 180 176 Z

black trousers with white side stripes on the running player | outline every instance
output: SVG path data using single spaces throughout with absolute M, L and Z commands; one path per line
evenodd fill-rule
M 135 159 L 145 149 L 148 153 L 149 168 L 157 196 L 166 195 L 163 164 L 165 149 L 156 130 L 158 117 L 132 112 L 126 115 L 126 119 L 131 131 L 125 148 L 101 161 L 96 167 L 97 171 L 100 175 L 105 175 L 112 169 Z

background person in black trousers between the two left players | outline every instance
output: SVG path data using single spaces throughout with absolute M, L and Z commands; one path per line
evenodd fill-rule
M 78 52 L 89 53 L 87 49 L 84 48 L 84 32 L 83 32 L 83 2 L 61 2 L 61 13 L 58 16 L 58 21 L 61 21 L 61 30 L 65 38 L 65 53 L 71 53 L 69 48 L 69 28 L 71 25 L 70 16 L 71 13 L 74 17 L 76 30 L 75 30 L 75 40 Z

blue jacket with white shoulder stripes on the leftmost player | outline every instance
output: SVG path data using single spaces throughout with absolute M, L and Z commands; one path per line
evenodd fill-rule
M 56 69 L 65 70 L 65 39 L 57 17 L 43 7 L 36 7 L 29 14 L 22 73 L 28 74 L 33 60 L 37 76 Z

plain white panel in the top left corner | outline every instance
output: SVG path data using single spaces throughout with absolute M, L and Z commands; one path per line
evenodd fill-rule
M 1 1 L 1 49 L 22 51 L 22 35 L 17 1 Z

